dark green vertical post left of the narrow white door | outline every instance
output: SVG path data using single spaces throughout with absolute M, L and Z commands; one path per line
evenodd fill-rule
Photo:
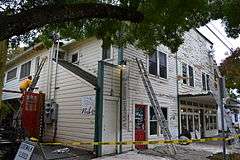
M 94 141 L 102 142 L 102 123 L 103 123 L 103 76 L 104 76 L 104 64 L 102 61 L 98 62 L 98 76 L 96 86 L 96 112 L 95 112 L 95 133 Z M 95 145 L 94 150 L 97 157 L 102 156 L 102 146 Z

